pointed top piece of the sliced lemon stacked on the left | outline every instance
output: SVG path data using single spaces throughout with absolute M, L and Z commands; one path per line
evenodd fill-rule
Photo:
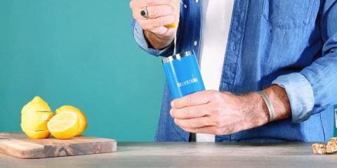
M 48 103 L 42 100 L 39 96 L 35 96 L 32 101 L 27 103 L 27 105 L 23 106 L 21 113 L 25 112 L 51 112 L 51 108 L 49 108 Z

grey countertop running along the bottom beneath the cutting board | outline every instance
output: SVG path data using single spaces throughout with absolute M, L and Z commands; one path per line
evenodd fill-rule
M 310 143 L 118 143 L 116 153 L 24 160 L 0 154 L 0 167 L 337 167 L 337 154 Z

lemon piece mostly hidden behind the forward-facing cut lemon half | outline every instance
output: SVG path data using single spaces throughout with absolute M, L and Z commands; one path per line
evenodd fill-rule
M 79 110 L 79 108 L 75 108 L 71 105 L 63 105 L 62 107 L 55 110 L 55 114 L 58 115 L 61 112 L 75 112 L 77 114 L 77 117 L 79 117 L 79 131 L 77 132 L 76 136 L 81 135 L 88 127 L 86 115 L 84 115 L 84 113 Z

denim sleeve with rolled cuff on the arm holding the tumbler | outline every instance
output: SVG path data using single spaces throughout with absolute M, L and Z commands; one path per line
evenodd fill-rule
M 282 75 L 272 82 L 286 90 L 293 122 L 305 121 L 337 99 L 337 2 L 325 1 L 320 13 L 322 57 L 300 72 Z

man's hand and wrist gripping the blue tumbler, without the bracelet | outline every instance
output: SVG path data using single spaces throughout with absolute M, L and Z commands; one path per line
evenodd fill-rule
M 273 85 L 265 90 L 275 108 L 276 119 L 290 117 L 286 92 Z M 183 130 L 214 135 L 232 134 L 262 126 L 269 112 L 258 93 L 237 96 L 228 92 L 200 91 L 171 102 L 171 116 Z

